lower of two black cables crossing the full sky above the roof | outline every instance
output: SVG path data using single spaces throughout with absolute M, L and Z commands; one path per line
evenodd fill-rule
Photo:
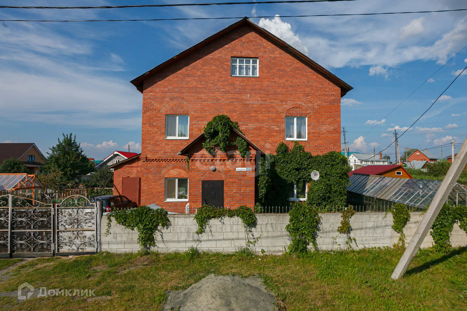
M 412 14 L 412 13 L 437 13 L 467 11 L 467 9 L 438 10 L 438 11 L 413 11 L 413 12 L 384 12 L 384 13 L 360 13 L 360 14 L 315 14 L 315 15 L 283 15 L 286 17 L 319 17 L 319 16 L 364 16 L 364 15 L 387 15 L 387 14 Z M 237 16 L 237 17 L 192 17 L 192 18 L 155 18 L 138 20 L 0 20 L 0 21 L 40 21 L 40 22 L 81 22 L 81 21 L 191 21 L 191 20 L 232 20 L 242 18 L 273 18 L 276 16 Z

